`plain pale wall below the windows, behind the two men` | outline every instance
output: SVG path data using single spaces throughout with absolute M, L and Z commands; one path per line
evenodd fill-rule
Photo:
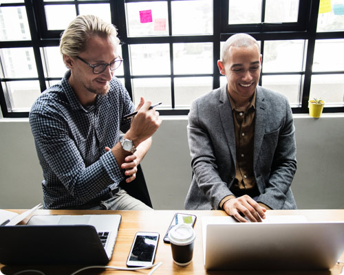
M 191 182 L 186 117 L 163 117 L 142 162 L 153 207 L 184 209 Z M 344 114 L 320 119 L 294 115 L 299 208 L 344 208 Z M 0 208 L 30 208 L 42 201 L 42 171 L 28 120 L 0 119 Z

